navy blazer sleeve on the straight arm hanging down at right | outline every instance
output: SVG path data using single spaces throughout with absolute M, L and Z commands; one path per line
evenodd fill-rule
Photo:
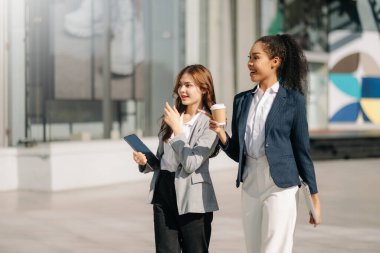
M 312 194 L 318 192 L 314 165 L 310 155 L 309 129 L 306 116 L 305 99 L 296 95 L 296 110 L 290 139 L 298 173 L 310 188 Z

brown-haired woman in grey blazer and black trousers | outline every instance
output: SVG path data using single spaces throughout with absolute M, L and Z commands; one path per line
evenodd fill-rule
M 175 105 L 166 103 L 158 134 L 160 168 L 146 157 L 133 158 L 145 173 L 153 171 L 149 200 L 153 204 L 156 252 L 208 252 L 213 211 L 218 204 L 209 172 L 218 138 L 209 128 L 215 93 L 210 72 L 202 65 L 181 70 L 173 90 Z

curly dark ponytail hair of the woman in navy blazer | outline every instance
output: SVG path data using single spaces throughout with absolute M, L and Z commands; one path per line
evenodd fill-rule
M 281 63 L 277 69 L 279 83 L 302 95 L 307 94 L 309 68 L 306 57 L 297 42 L 289 34 L 264 36 L 255 43 L 257 42 L 264 44 L 264 51 L 270 59 L 276 56 L 280 58 Z

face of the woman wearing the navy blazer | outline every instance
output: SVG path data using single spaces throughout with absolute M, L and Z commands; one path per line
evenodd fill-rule
M 270 59 L 264 44 L 256 42 L 249 52 L 248 69 L 252 82 L 261 82 L 276 76 L 277 57 Z

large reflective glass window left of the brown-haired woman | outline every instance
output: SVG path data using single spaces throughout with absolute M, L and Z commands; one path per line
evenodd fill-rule
M 156 134 L 185 62 L 183 2 L 26 1 L 26 137 L 107 137 L 107 84 L 114 137 Z

